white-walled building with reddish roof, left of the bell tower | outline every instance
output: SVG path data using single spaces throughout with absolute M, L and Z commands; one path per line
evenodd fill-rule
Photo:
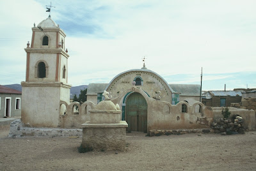
M 21 92 L 0 85 L 0 118 L 20 117 Z

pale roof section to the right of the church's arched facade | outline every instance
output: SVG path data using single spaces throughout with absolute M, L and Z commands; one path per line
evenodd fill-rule
M 173 91 L 180 96 L 200 96 L 200 85 L 198 84 L 169 84 Z

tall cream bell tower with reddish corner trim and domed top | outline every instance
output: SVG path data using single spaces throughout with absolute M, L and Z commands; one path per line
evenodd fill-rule
M 60 101 L 69 104 L 68 54 L 64 31 L 51 16 L 32 28 L 31 47 L 27 53 L 26 82 L 22 85 L 24 124 L 33 127 L 57 127 Z

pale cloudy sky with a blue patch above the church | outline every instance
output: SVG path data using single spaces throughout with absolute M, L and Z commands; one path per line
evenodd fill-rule
M 0 1 L 0 84 L 26 76 L 31 27 L 49 13 L 65 31 L 68 84 L 109 83 L 149 70 L 202 90 L 256 88 L 256 1 Z

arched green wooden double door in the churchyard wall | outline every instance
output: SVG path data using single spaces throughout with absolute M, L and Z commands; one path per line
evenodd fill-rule
M 140 93 L 132 93 L 126 100 L 127 131 L 147 132 L 147 101 Z

